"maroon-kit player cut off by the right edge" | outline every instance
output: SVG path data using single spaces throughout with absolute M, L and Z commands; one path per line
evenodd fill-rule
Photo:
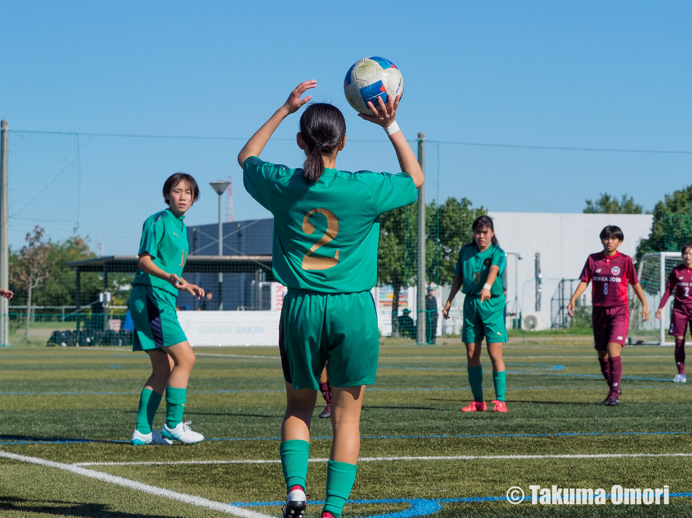
M 690 324 L 692 333 L 692 243 L 686 243 L 680 249 L 682 252 L 682 263 L 675 266 L 668 276 L 666 292 L 663 294 L 661 304 L 658 305 L 656 318 L 661 320 L 663 306 L 668 302 L 668 297 L 675 290 L 675 302 L 671 311 L 671 329 L 668 334 L 675 337 L 675 364 L 677 374 L 673 381 L 676 383 L 686 383 L 685 376 L 685 333 L 687 322 Z

